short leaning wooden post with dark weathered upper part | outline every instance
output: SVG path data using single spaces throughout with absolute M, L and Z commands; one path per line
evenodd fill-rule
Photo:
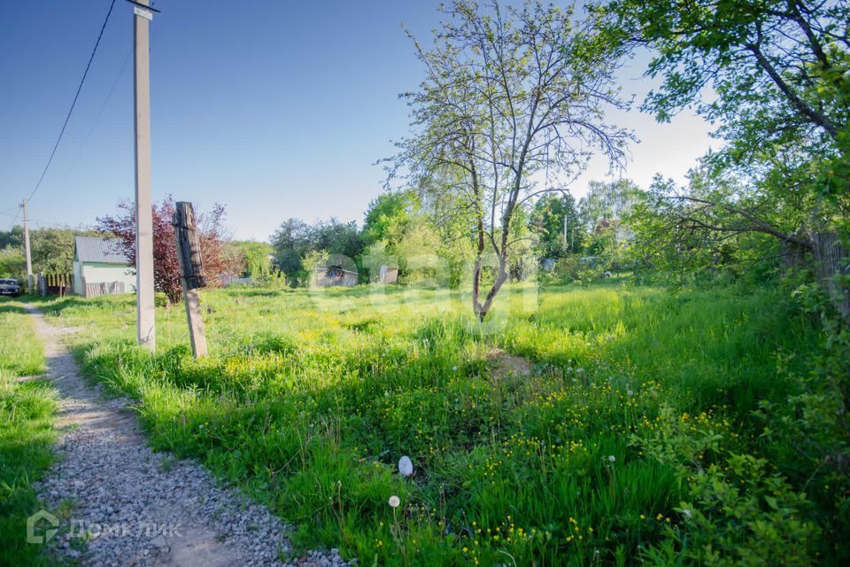
M 178 201 L 174 205 L 174 237 L 177 240 L 177 261 L 180 264 L 180 283 L 183 288 L 183 303 L 189 322 L 189 338 L 195 358 L 206 356 L 204 317 L 201 315 L 201 300 L 197 288 L 204 287 L 204 265 L 201 261 L 201 245 L 197 238 L 195 210 L 191 203 Z

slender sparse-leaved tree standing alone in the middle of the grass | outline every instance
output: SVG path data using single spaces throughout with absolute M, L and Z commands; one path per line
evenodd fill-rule
M 630 135 L 599 118 L 626 105 L 614 89 L 619 52 L 595 19 L 539 1 L 458 0 L 444 13 L 434 47 L 415 43 L 426 74 L 403 96 L 417 132 L 398 142 L 389 179 L 452 201 L 471 222 L 472 306 L 483 321 L 508 278 L 518 208 L 560 190 L 592 148 L 619 162 Z M 495 274 L 485 283 L 487 257 Z

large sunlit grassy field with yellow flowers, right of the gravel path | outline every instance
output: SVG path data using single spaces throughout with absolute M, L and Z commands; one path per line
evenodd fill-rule
M 781 291 L 514 286 L 484 326 L 450 291 L 203 295 L 203 361 L 179 306 L 158 308 L 155 356 L 132 297 L 43 308 L 83 327 L 85 369 L 137 400 L 154 447 L 266 501 L 300 548 L 363 565 L 823 552 L 812 505 L 761 458 L 759 400 L 795 392 L 820 341 Z

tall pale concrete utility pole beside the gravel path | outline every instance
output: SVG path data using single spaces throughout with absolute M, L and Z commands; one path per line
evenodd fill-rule
M 139 345 L 156 349 L 151 213 L 151 52 L 148 0 L 132 2 L 135 31 L 135 305 Z

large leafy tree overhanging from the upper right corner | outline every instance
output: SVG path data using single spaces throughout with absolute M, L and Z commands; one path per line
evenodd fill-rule
M 668 224 L 717 237 L 753 232 L 812 252 L 850 316 L 834 277 L 847 269 L 838 238 L 850 237 L 850 4 L 611 0 L 596 10 L 622 44 L 656 50 L 647 74 L 661 87 L 643 108 L 668 120 L 693 105 L 726 143 L 703 161 L 705 188 L 655 191 Z M 715 97 L 701 97 L 707 86 Z

